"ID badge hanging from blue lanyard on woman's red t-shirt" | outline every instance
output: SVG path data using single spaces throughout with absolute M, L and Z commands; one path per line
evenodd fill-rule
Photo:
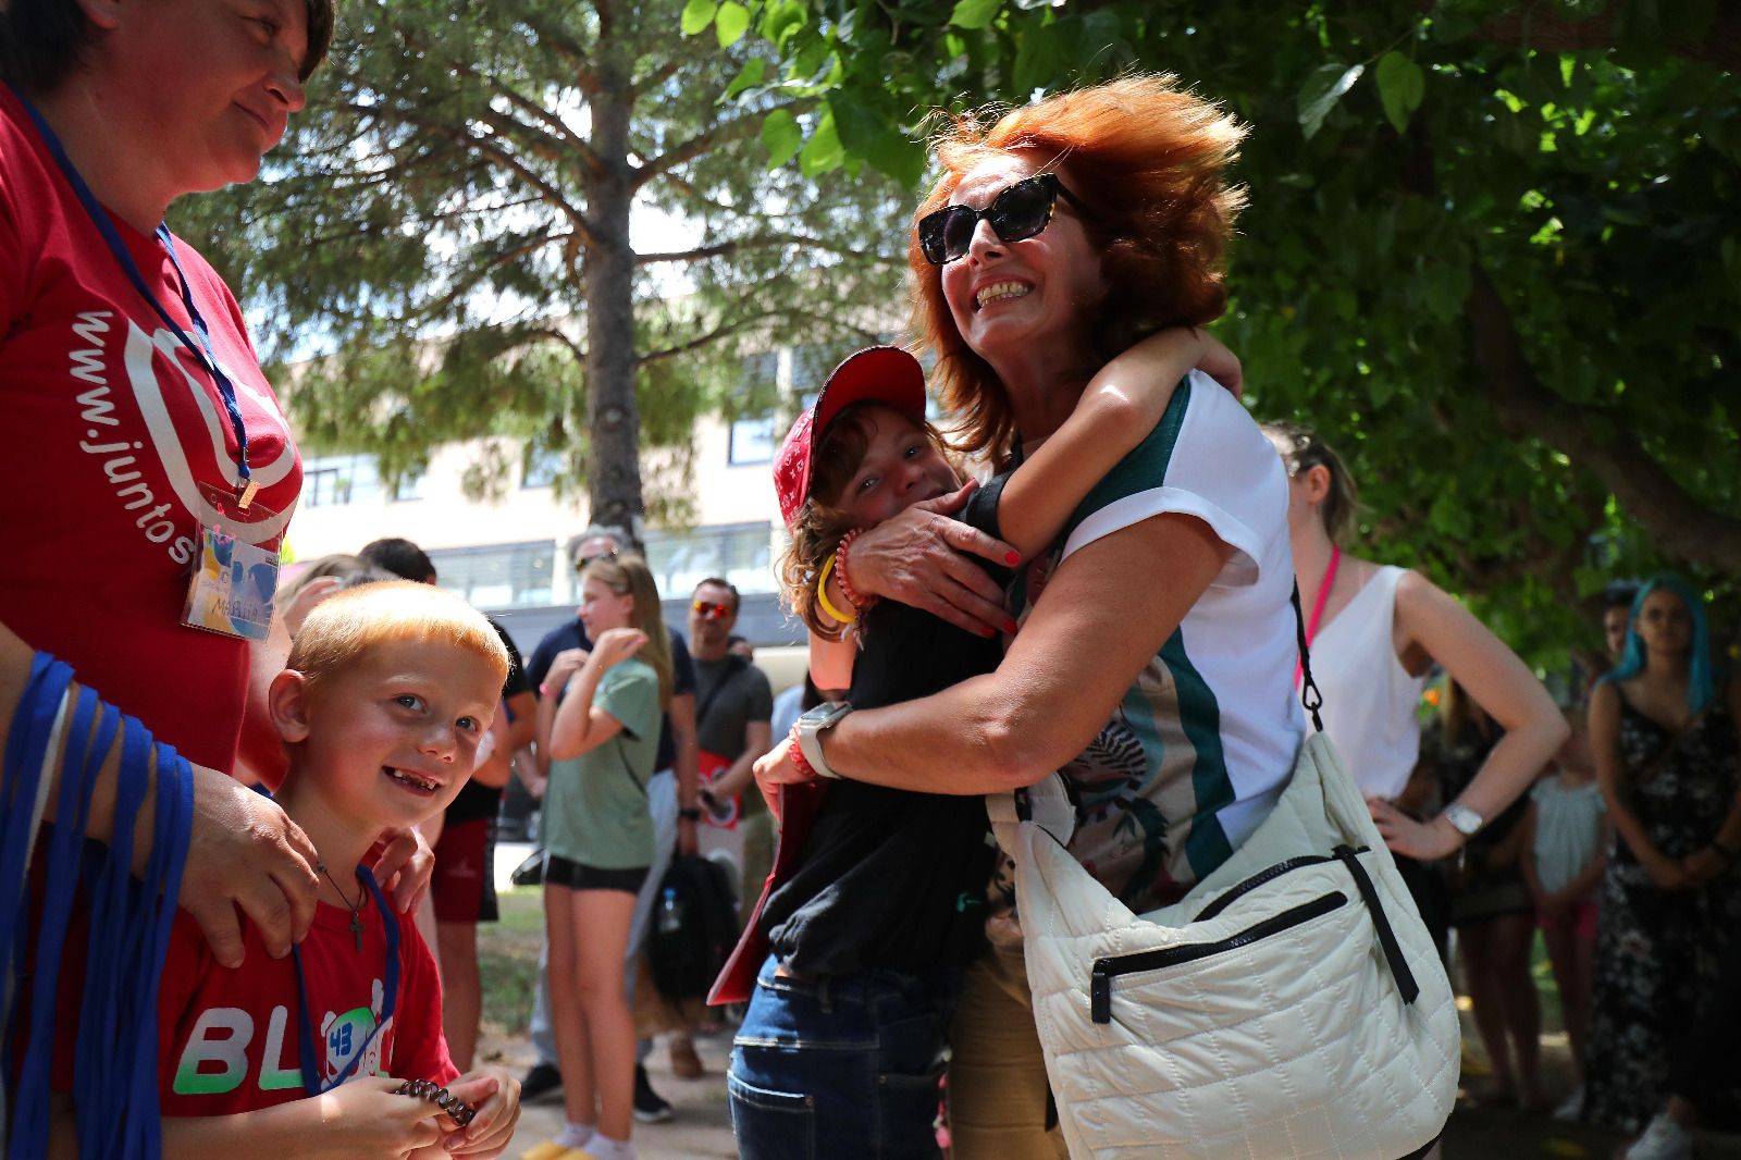
M 200 495 L 219 519 L 200 524 L 181 624 L 244 641 L 265 641 L 279 589 L 280 538 L 249 543 L 237 531 L 245 523 L 266 521 L 277 512 L 263 503 L 244 507 L 233 493 L 209 484 L 200 484 Z

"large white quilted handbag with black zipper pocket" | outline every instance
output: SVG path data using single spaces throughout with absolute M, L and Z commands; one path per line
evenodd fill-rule
M 1065 850 L 1057 775 L 987 808 L 1072 1160 L 1398 1160 L 1443 1129 L 1450 982 L 1321 732 L 1257 833 L 1149 914 Z

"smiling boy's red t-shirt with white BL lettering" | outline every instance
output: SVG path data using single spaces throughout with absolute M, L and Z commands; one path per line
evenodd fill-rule
M 322 902 L 301 944 L 308 1010 L 291 956 L 270 958 L 244 923 L 245 960 L 219 967 L 205 935 L 181 911 L 157 993 L 157 1085 L 165 1116 L 221 1116 L 296 1099 L 303 1089 L 298 1021 L 308 1022 L 322 1083 L 360 1050 L 353 1075 L 449 1083 L 460 1073 L 440 1028 L 440 981 L 416 923 L 399 920 L 399 1003 L 383 1015 L 387 928 L 373 900 L 362 911 L 362 951 L 350 911 Z M 373 1038 L 371 1038 L 373 1035 Z

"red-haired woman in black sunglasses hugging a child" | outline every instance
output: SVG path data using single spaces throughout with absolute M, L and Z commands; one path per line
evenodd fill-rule
M 1220 260 L 1243 195 L 1243 129 L 1170 78 L 1137 77 L 965 120 L 937 146 L 911 263 L 961 441 L 999 469 L 1071 415 L 1112 355 L 1226 307 Z M 888 596 L 1006 627 L 1005 594 L 958 550 L 963 495 L 851 547 L 857 599 Z M 996 672 L 923 700 L 801 719 L 823 773 L 980 794 L 1062 770 L 1072 853 L 1135 911 L 1180 897 L 1267 815 L 1304 721 L 1294 698 L 1287 477 L 1240 402 L 1200 373 L 1008 590 L 1020 624 Z M 799 780 L 790 742 L 757 765 Z M 810 761 L 815 765 L 815 761 Z M 949 1080 L 956 1155 L 1064 1155 L 1020 948 L 975 963 Z

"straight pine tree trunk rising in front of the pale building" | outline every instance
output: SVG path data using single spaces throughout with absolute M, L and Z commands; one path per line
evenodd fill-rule
M 606 5 L 601 7 L 601 16 Z M 590 519 L 627 528 L 639 542 L 646 505 L 641 495 L 641 413 L 635 406 L 635 254 L 629 247 L 629 120 L 634 105 L 629 61 L 611 21 L 601 19 L 592 61 L 599 91 L 592 98 L 592 150 L 601 165 L 588 174 L 587 218 L 587 434 Z

